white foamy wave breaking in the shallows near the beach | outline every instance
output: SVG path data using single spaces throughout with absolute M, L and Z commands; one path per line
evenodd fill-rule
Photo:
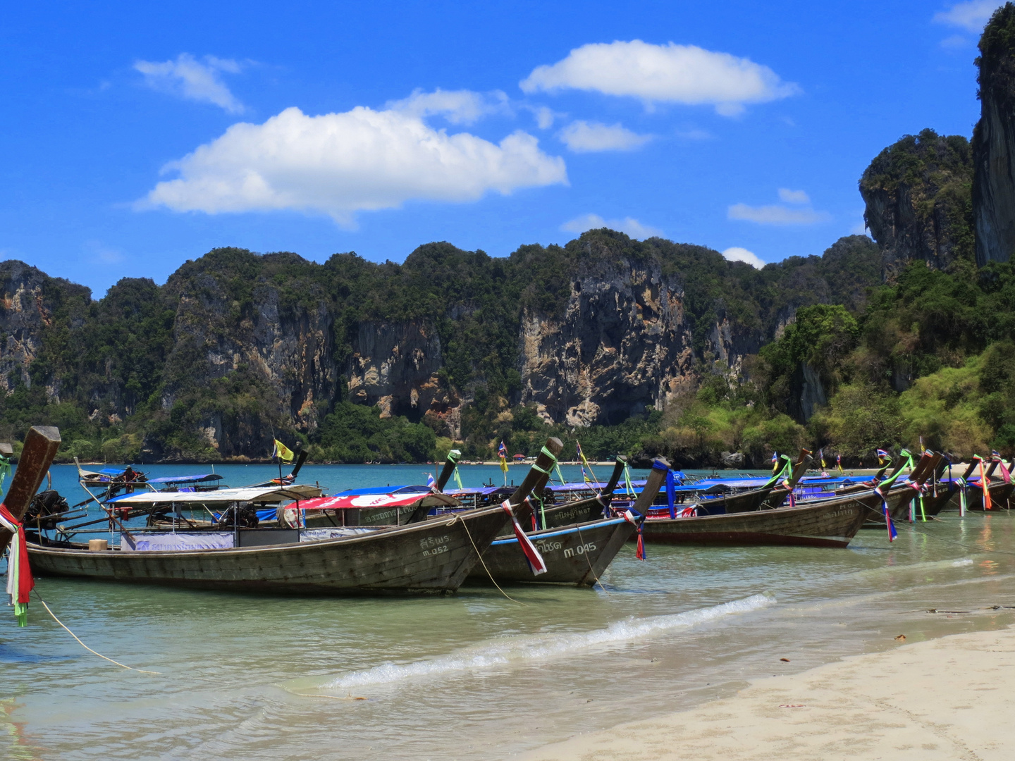
M 582 647 L 627 642 L 649 634 L 680 629 L 715 621 L 724 616 L 767 608 L 775 599 L 766 595 L 753 595 L 712 608 L 700 608 L 668 616 L 628 618 L 610 624 L 605 629 L 587 632 L 561 632 L 512 637 L 479 647 L 465 648 L 450 655 L 413 664 L 384 664 L 373 669 L 352 672 L 339 677 L 323 689 L 345 689 L 365 685 L 388 684 L 412 677 L 482 669 L 490 666 L 536 661 L 572 652 Z

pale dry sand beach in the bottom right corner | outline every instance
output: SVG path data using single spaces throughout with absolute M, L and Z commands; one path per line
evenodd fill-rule
M 732 698 L 523 758 L 1001 761 L 1015 741 L 1013 677 L 1015 630 L 957 634 L 757 680 Z

